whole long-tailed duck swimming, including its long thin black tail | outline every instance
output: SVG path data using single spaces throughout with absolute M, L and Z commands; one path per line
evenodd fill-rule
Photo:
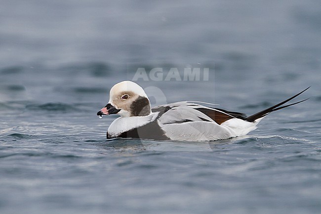
M 309 88 L 309 87 L 308 87 Z M 270 108 L 247 117 L 243 113 L 211 108 L 182 101 L 151 108 L 144 89 L 131 81 L 112 87 L 108 104 L 97 116 L 119 114 L 108 128 L 107 138 L 131 137 L 156 140 L 211 141 L 245 135 L 269 113 L 298 104 L 284 103 L 300 93 Z

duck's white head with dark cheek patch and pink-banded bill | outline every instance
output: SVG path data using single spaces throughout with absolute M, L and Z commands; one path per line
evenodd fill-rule
M 97 115 L 119 114 L 121 117 L 147 116 L 151 103 L 141 86 L 131 81 L 123 81 L 112 87 L 109 102 Z

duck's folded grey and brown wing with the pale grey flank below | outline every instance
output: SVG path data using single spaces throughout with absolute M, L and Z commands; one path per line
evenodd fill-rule
M 165 135 L 173 140 L 218 140 L 235 134 L 220 124 L 235 118 L 228 113 L 195 103 L 177 102 L 152 109 Z

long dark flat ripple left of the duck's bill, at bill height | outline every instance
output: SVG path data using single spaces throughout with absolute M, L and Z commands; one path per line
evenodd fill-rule
M 71 112 L 77 110 L 74 105 L 66 103 L 45 103 L 45 104 L 29 104 L 26 106 L 29 110 L 42 110 L 42 111 L 58 111 L 58 112 Z

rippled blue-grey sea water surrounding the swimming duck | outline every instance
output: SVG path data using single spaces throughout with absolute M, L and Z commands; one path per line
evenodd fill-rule
M 123 80 L 247 115 L 311 88 L 245 136 L 106 140 Z M 320 214 L 320 83 L 320 0 L 1 0 L 0 213 Z

